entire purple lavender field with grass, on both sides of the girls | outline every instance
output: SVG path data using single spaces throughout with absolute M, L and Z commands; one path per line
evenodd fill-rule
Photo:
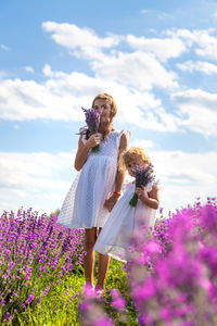
M 140 229 L 129 262 L 112 261 L 104 300 L 84 289 L 82 230 L 33 210 L 0 226 L 1 325 L 217 325 L 215 198 Z

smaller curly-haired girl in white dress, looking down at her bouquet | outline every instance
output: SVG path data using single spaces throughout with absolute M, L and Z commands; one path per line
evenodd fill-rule
M 143 168 L 151 163 L 144 150 L 137 147 L 125 151 L 120 159 L 120 164 L 127 168 L 132 177 L 135 177 L 136 166 Z M 123 197 L 110 214 L 94 246 L 95 251 L 108 254 L 123 262 L 127 261 L 133 231 L 141 225 L 153 227 L 156 218 L 155 213 L 159 205 L 158 186 L 156 183 L 136 188 L 135 181 L 132 181 L 127 184 L 125 188 Z M 138 196 L 138 202 L 136 206 L 131 206 L 129 201 L 135 192 Z

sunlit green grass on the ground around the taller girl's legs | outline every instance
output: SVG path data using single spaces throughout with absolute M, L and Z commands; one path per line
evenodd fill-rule
M 98 259 L 97 259 L 98 261 Z M 97 262 L 98 263 L 98 262 Z M 97 271 L 97 267 L 95 267 Z M 85 285 L 84 267 L 78 266 L 77 272 L 65 276 L 61 283 L 50 288 L 46 296 L 41 297 L 41 302 L 30 305 L 25 312 L 17 314 L 15 324 L 21 326 L 68 326 L 79 325 L 78 305 L 81 301 L 82 287 Z M 46 288 L 50 280 L 38 278 L 35 285 L 38 288 Z M 123 263 L 112 260 L 105 283 L 106 293 L 104 309 L 117 325 L 139 325 L 137 312 L 129 296 L 129 284 L 127 274 L 123 268 Z M 126 314 L 119 314 L 111 306 L 112 297 L 110 291 L 118 289 L 127 302 Z

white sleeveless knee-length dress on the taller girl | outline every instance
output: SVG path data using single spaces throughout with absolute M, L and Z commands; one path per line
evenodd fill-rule
M 105 200 L 115 190 L 119 141 L 123 131 L 113 130 L 100 142 L 100 150 L 89 150 L 60 211 L 58 224 L 68 228 L 103 227 L 110 214 Z M 82 142 L 87 140 L 82 136 Z

